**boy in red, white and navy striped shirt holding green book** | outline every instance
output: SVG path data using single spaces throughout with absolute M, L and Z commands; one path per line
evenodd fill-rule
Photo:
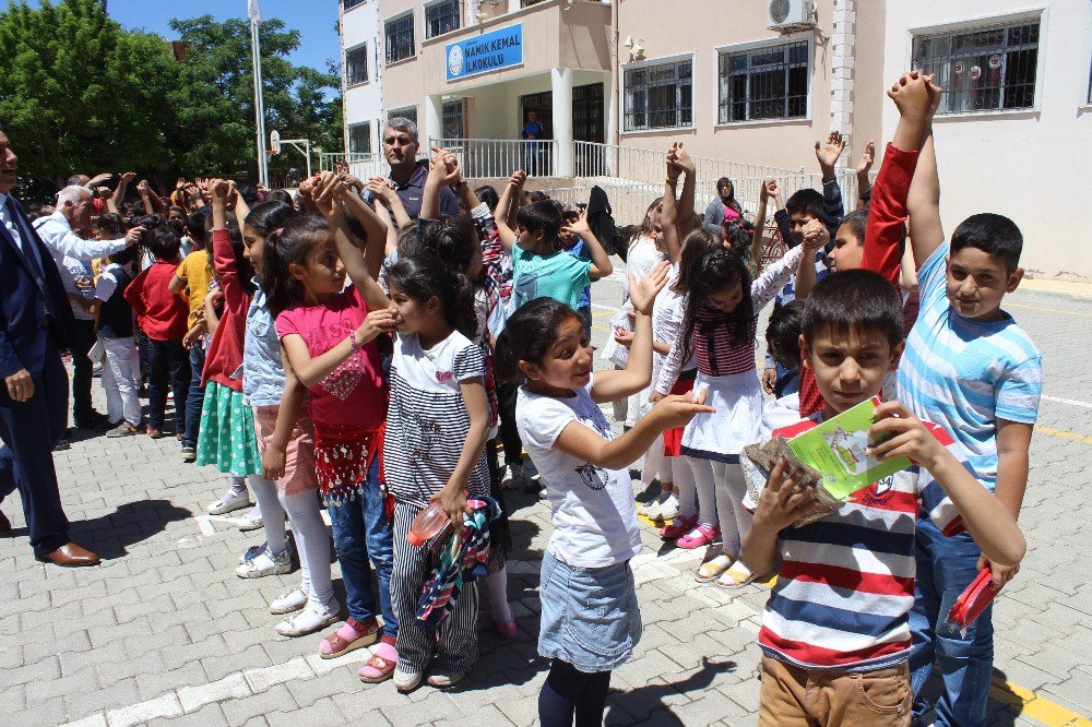
M 876 396 L 903 349 L 898 291 L 868 271 L 831 275 L 804 306 L 802 365 L 815 370 L 823 410 L 776 430 L 791 439 Z M 965 527 L 990 558 L 1016 568 L 1024 539 L 1016 519 L 982 488 L 940 427 L 899 402 L 877 408 L 868 450 L 879 460 L 909 456 L 909 469 L 873 484 L 827 517 L 815 511 L 779 463 L 769 475 L 743 541 L 755 573 L 778 565 L 762 616 L 759 725 L 909 725 L 915 521 L 938 533 Z

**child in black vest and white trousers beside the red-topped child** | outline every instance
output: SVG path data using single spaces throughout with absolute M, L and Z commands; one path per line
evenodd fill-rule
M 126 288 L 133 279 L 132 262 L 139 252 L 138 246 L 131 246 L 109 257 L 109 264 L 103 269 L 95 285 L 95 301 L 91 310 L 98 337 L 106 349 L 103 389 L 106 390 L 106 415 L 114 425 L 106 432 L 110 438 L 140 433 L 142 419 L 136 392 L 140 362 L 133 343 L 133 309 L 124 297 Z

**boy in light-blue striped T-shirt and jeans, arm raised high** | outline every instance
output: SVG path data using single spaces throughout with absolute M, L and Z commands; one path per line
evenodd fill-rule
M 1020 513 L 1028 485 L 1028 450 L 1042 394 L 1042 360 L 1034 343 L 1001 309 L 1006 293 L 1020 285 L 1023 245 L 1012 221 L 972 215 L 945 241 L 940 184 L 931 118 L 940 90 L 931 76 L 911 73 L 888 94 L 904 124 L 924 141 L 906 207 L 918 267 L 921 312 L 899 369 L 899 398 L 917 416 L 937 421 L 956 437 L 985 490 Z M 883 166 L 888 166 L 885 159 Z M 875 204 L 875 202 L 874 202 Z M 871 221 L 869 221 L 871 223 Z M 866 239 L 866 261 L 897 255 Z M 922 688 L 936 658 L 945 689 L 936 704 L 937 725 L 984 725 L 993 671 L 992 609 L 965 635 L 946 625 L 948 607 L 985 567 L 1000 588 L 1016 567 L 997 563 L 963 536 L 945 539 L 922 521 L 917 536 L 917 598 L 911 616 L 914 705 L 928 705 Z M 942 636 L 942 639 L 938 639 Z

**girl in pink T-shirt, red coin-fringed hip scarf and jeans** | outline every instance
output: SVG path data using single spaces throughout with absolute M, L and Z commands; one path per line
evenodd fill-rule
M 319 656 L 341 656 L 381 637 L 360 670 L 361 680 L 378 682 L 390 678 L 397 659 L 391 529 L 380 475 L 387 391 L 377 344 L 394 327 L 394 314 L 375 282 L 384 230 L 373 215 L 363 218 L 368 240 L 361 255 L 341 210 L 343 191 L 333 172 L 323 172 L 311 198 L 328 218 L 294 217 L 266 237 L 262 278 L 288 366 L 309 394 L 319 488 L 349 612 L 345 624 L 322 640 Z M 378 594 L 371 588 L 372 565 Z

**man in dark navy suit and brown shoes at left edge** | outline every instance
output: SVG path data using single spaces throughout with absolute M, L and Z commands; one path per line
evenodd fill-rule
M 68 376 L 52 334 L 72 330 L 57 264 L 10 192 L 17 157 L 0 130 L 0 499 L 16 488 L 38 560 L 94 565 L 69 540 L 52 442 L 68 420 Z M 11 523 L 0 515 L 0 531 Z

